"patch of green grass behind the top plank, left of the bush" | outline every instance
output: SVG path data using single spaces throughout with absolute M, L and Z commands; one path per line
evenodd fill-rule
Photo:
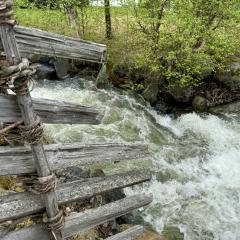
M 82 39 L 107 45 L 110 67 L 114 63 L 126 61 L 130 56 L 136 54 L 139 48 L 138 38 L 132 28 L 134 24 L 132 10 L 126 7 L 112 7 L 111 14 L 112 39 L 105 38 L 103 7 L 86 8 L 83 18 L 85 33 L 80 36 Z M 60 10 L 15 8 L 15 19 L 22 26 L 39 28 L 71 37 L 77 37 L 77 32 L 82 26 L 80 19 L 77 27 L 71 27 L 68 18 Z

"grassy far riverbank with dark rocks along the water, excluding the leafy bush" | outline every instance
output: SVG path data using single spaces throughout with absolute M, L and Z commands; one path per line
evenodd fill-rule
M 213 110 L 215 106 L 240 100 L 239 56 L 230 57 L 223 71 L 205 71 L 202 84 L 188 87 L 171 86 L 162 77 L 161 72 L 154 72 L 147 66 L 139 67 L 132 61 L 144 48 L 140 41 L 141 34 L 135 29 L 134 10 L 131 7 L 112 7 L 111 11 L 112 39 L 105 38 L 102 7 L 84 8 L 85 21 L 79 27 L 84 25 L 85 30 L 80 36 L 83 39 L 107 45 L 107 77 L 113 86 L 140 94 L 157 112 L 163 114 L 179 115 L 193 110 L 216 112 Z M 16 7 L 16 19 L 20 25 L 67 36 L 79 36 L 79 29 L 76 26 L 69 27 L 67 16 L 60 10 Z M 77 63 L 76 69 L 81 72 L 81 77 L 90 75 L 96 78 L 100 71 L 99 66 L 86 63 Z M 52 76 L 54 78 L 56 75 Z M 224 109 L 226 110 L 226 107 Z

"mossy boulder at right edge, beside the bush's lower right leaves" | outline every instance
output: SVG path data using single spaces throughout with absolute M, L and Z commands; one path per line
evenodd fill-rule
M 240 90 L 240 57 L 232 57 L 226 69 L 217 72 L 216 78 L 231 90 Z

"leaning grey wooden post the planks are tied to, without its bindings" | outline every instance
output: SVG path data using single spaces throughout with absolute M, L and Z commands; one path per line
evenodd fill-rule
M 10 22 L 10 16 L 12 11 L 12 1 L 2 0 L 1 4 L 1 14 L 5 14 L 5 17 L 1 16 L 0 24 L 0 36 L 2 39 L 2 45 L 6 54 L 6 59 L 10 64 L 16 65 L 21 62 L 21 56 L 18 51 L 14 28 Z M 29 91 L 24 95 L 17 94 L 17 101 L 19 108 L 22 113 L 22 118 L 25 126 L 32 126 L 35 122 L 36 115 L 33 112 L 32 99 Z M 51 171 L 48 165 L 48 161 L 43 149 L 42 143 L 31 145 L 32 154 L 36 162 L 37 173 L 39 177 L 46 177 L 51 175 Z M 58 203 L 56 200 L 55 192 L 48 192 L 43 195 L 43 201 L 46 207 L 46 211 L 49 218 L 54 218 L 59 213 Z M 62 239 L 61 232 L 54 233 L 57 240 Z

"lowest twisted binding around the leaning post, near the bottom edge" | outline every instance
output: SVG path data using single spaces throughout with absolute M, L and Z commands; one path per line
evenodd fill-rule
M 43 214 L 43 223 L 51 230 L 54 238 L 57 240 L 56 234 L 61 232 L 64 227 L 63 210 L 60 210 L 55 217 L 49 218 L 46 213 Z

